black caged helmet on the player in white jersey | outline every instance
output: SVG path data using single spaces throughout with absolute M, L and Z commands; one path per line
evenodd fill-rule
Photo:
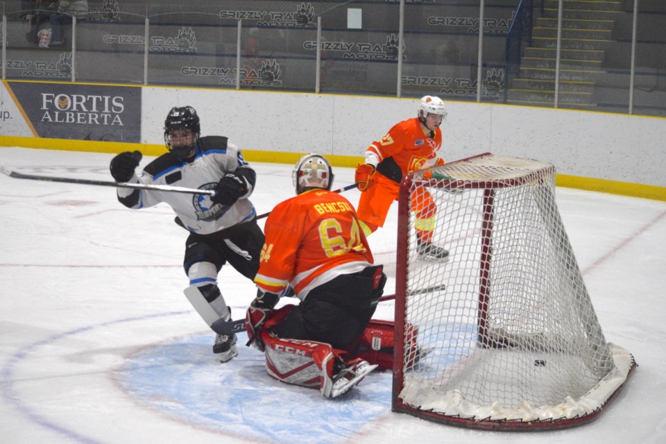
M 164 144 L 173 155 L 186 160 L 194 156 L 200 132 L 199 117 L 194 108 L 174 107 L 164 121 Z

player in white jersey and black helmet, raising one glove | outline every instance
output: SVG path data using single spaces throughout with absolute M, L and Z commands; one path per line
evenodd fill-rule
M 135 169 L 141 160 L 139 151 L 115 156 L 111 160 L 111 175 L 118 182 L 216 191 L 215 196 L 153 189 L 117 191 L 118 200 L 128 208 L 164 202 L 176 212 L 176 223 L 189 231 L 184 266 L 191 288 L 186 295 L 213 327 L 211 313 L 217 321 L 231 319 L 217 285 L 222 266 L 228 262 L 249 280 L 254 280 L 259 268 L 264 233 L 248 199 L 257 175 L 239 148 L 228 143 L 226 137 L 200 137 L 199 117 L 190 106 L 169 111 L 164 122 L 164 142 L 169 152 L 149 163 L 138 176 Z M 192 288 L 197 290 L 194 297 L 189 291 Z M 217 334 L 213 352 L 221 362 L 233 359 L 237 355 L 236 335 Z

